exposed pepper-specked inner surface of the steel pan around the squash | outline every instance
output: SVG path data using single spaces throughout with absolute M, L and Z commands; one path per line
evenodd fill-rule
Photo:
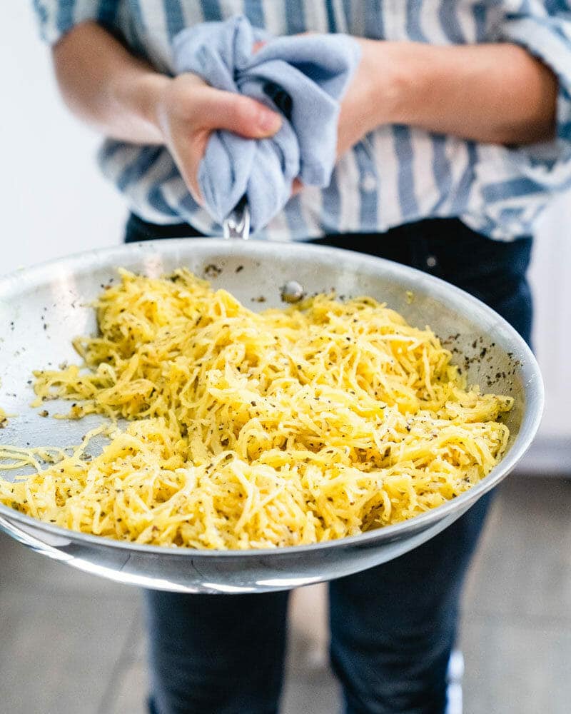
M 499 316 L 447 283 L 360 253 L 303 244 L 193 239 L 85 253 L 0 281 L 0 406 L 15 415 L 0 430 L 0 443 L 70 446 L 101 423 L 98 416 L 79 421 L 51 418 L 69 409 L 69 403 L 59 401 L 47 402 L 49 416 L 40 416 L 43 408 L 29 406 L 31 380 L 36 369 L 79 363 L 71 338 L 95 333 L 90 303 L 104 286 L 118 280 L 118 266 L 148 276 L 185 266 L 256 311 L 283 306 L 281 288 L 288 281 L 297 281 L 309 294 L 373 296 L 413 326 L 430 326 L 453 351 L 453 361 L 468 376 L 468 383 L 514 397 L 505 420 L 511 433 L 508 451 L 524 418 L 530 424 L 537 421 L 526 412 L 530 388 L 535 389 L 535 410 L 541 406 L 540 376 L 527 347 Z M 100 446 L 95 442 L 91 453 Z M 9 478 L 17 475 L 9 473 Z

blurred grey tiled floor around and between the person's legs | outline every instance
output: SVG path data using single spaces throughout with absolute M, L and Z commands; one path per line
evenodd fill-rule
M 500 487 L 464 598 L 465 714 L 570 711 L 570 516 L 571 481 Z M 306 588 L 298 600 L 283 714 L 335 714 L 323 599 Z M 0 535 L 0 612 L 1 714 L 143 714 L 136 590 Z

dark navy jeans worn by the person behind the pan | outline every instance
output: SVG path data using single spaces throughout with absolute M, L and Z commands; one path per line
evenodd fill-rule
M 188 235 L 131 219 L 127 240 Z M 196 233 L 195 233 L 196 235 Z M 452 219 L 382 235 L 330 236 L 473 293 L 529 341 L 531 239 L 500 243 Z M 458 598 L 490 497 L 428 543 L 329 585 L 330 656 L 348 714 L 442 714 Z M 273 714 L 283 673 L 288 593 L 146 593 L 156 714 Z M 333 713 L 332 713 L 333 714 Z

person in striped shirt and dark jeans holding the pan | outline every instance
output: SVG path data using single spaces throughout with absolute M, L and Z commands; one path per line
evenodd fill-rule
M 243 11 L 274 35 L 358 38 L 330 185 L 258 234 L 390 258 L 485 301 L 530 338 L 535 220 L 571 184 L 565 0 L 35 0 L 71 111 L 101 130 L 126 241 L 221 233 L 201 208 L 208 137 L 272 136 L 281 116 L 173 76 L 186 26 Z M 489 501 L 433 540 L 329 585 L 330 656 L 350 714 L 442 713 L 458 599 Z M 148 591 L 151 711 L 276 712 L 288 593 Z

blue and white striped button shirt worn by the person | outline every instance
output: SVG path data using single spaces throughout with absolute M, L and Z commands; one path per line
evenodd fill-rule
M 34 0 L 34 7 L 46 41 L 95 19 L 165 73 L 173 71 L 178 31 L 245 14 L 276 35 L 311 30 L 439 45 L 510 41 L 557 74 L 554 141 L 508 148 L 381 126 L 340 159 L 328 188 L 305 188 L 261 238 L 379 232 L 455 216 L 490 238 L 512 240 L 530 234 L 552 193 L 571 186 L 571 0 Z M 100 162 L 144 220 L 221 232 L 163 147 L 107 140 Z

